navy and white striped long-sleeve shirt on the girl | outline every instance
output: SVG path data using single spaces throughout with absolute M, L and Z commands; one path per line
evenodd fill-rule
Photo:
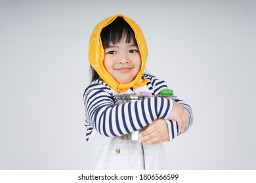
M 144 74 L 143 78 L 148 78 L 148 89 L 154 94 L 167 88 L 163 80 L 157 79 L 153 75 Z M 150 124 L 156 119 L 167 119 L 171 114 L 172 101 L 163 97 L 149 97 L 140 101 L 114 105 L 112 90 L 102 80 L 95 80 L 83 94 L 85 105 L 85 126 L 87 127 L 87 141 L 93 130 L 98 131 L 106 137 L 117 137 Z M 189 105 L 179 99 L 177 103 L 186 108 L 189 112 L 187 131 L 193 122 L 192 110 Z M 180 134 L 177 123 L 166 120 L 169 126 L 169 135 L 174 139 Z

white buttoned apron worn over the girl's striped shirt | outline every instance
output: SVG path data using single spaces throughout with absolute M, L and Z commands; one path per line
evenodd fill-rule
M 146 86 L 137 88 L 135 92 L 140 91 L 149 92 Z M 142 146 L 138 141 L 104 137 L 93 130 L 89 148 L 91 169 L 166 169 L 163 143 Z

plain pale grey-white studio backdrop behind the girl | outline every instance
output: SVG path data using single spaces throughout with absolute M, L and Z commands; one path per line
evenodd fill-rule
M 89 36 L 125 14 L 147 70 L 189 103 L 169 169 L 256 169 L 255 1 L 0 1 L 0 169 L 88 169 Z

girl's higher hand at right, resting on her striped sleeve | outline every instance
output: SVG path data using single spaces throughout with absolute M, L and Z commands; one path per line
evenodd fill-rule
M 182 133 L 184 129 L 188 126 L 188 110 L 179 105 L 179 103 L 173 101 L 173 110 L 171 110 L 171 114 L 168 119 L 175 120 L 178 124 L 179 131 L 181 131 Z

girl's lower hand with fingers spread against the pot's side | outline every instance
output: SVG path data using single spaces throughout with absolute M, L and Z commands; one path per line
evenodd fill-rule
M 169 141 L 168 125 L 164 119 L 155 120 L 144 131 L 140 132 L 139 138 L 139 142 L 144 145 Z

